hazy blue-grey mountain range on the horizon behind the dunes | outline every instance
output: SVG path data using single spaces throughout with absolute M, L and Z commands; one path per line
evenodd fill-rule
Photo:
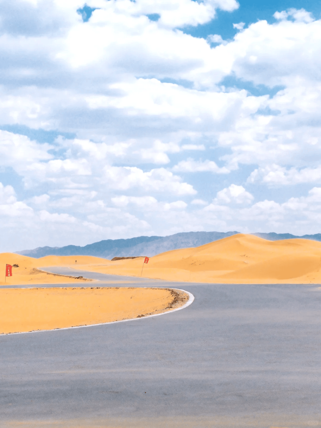
M 67 245 L 66 247 L 38 247 L 34 250 L 17 251 L 16 254 L 39 259 L 44 256 L 95 256 L 104 259 L 130 256 L 155 256 L 165 251 L 178 250 L 188 247 L 199 247 L 218 239 L 235 235 L 239 232 L 181 232 L 169 236 L 139 236 L 130 239 L 107 239 L 93 244 L 79 247 Z M 290 233 L 253 233 L 259 238 L 269 241 L 281 239 L 303 238 L 321 241 L 321 234 L 296 236 Z

